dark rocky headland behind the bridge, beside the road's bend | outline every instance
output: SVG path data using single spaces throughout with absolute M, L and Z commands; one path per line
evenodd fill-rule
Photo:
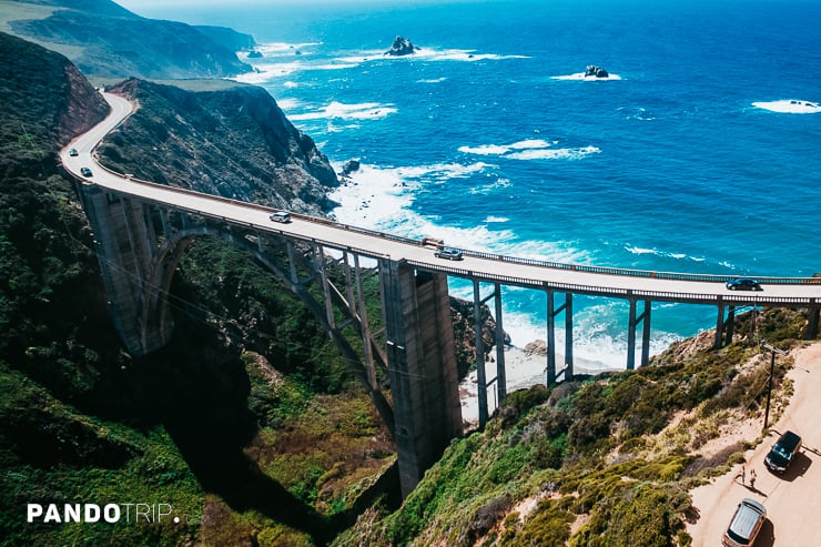
M 139 179 L 303 213 L 327 211 L 333 168 L 263 89 L 192 92 L 129 80 L 138 111 L 99 149 Z

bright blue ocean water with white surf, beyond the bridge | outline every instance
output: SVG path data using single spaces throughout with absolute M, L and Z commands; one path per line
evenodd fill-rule
M 337 217 L 465 249 L 673 272 L 821 272 L 821 2 L 247 2 L 138 10 L 253 34 L 336 165 Z M 383 55 L 401 34 L 422 50 Z M 581 78 L 587 64 L 611 74 Z M 452 291 L 468 295 L 458 281 Z M 505 293 L 524 346 L 545 295 Z M 625 362 L 627 305 L 575 300 L 577 357 Z M 653 353 L 714 326 L 653 306 Z

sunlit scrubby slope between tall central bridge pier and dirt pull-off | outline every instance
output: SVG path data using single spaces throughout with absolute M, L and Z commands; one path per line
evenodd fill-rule
M 803 327 L 801 314 L 769 311 L 757 340 L 788 347 Z M 748 316 L 737 332 L 750 332 Z M 690 545 L 688 490 L 744 446 L 701 450 L 763 413 L 769 366 L 750 365 L 759 352 L 749 340 L 717 352 L 702 336 L 635 372 L 513 393 L 484 432 L 452 443 L 399 510 L 375 507 L 335 545 Z

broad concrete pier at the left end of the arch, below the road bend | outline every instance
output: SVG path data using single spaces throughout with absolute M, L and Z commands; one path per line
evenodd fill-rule
M 128 351 L 145 355 L 171 340 L 173 323 L 160 310 L 156 287 L 165 264 L 155 261 L 156 234 L 149 205 L 79 183 L 114 326 Z

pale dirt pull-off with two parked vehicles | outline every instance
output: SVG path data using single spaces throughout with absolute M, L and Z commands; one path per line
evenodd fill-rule
M 738 503 L 749 497 L 767 507 L 767 521 L 756 547 L 821 545 L 821 343 L 793 352 L 795 366 L 788 376 L 793 378 L 795 393 L 781 418 L 771 425 L 770 435 L 754 449 L 748 450 L 747 483 L 736 479 L 740 467 L 695 489 L 693 506 L 699 519 L 688 525 L 693 547 L 720 546 Z M 763 418 L 751 438 L 761 432 Z M 770 446 L 785 430 L 803 438 L 803 449 L 783 476 L 764 467 Z M 750 487 L 750 470 L 758 474 L 756 487 Z

